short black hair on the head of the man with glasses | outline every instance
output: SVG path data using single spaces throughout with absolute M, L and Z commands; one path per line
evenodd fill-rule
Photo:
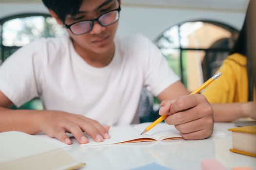
M 82 0 L 42 0 L 43 4 L 52 10 L 64 23 L 67 15 L 77 15 L 79 13 Z

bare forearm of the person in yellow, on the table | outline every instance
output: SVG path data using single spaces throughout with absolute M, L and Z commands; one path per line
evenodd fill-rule
M 234 121 L 245 117 L 256 119 L 256 102 L 212 103 L 212 106 L 214 121 Z

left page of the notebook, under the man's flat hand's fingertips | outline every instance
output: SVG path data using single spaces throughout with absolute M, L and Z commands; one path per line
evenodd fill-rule
M 156 140 L 149 135 L 140 135 L 141 131 L 135 129 L 131 125 L 113 126 L 109 130 L 110 139 L 104 139 L 103 142 L 95 142 L 90 136 L 86 135 L 89 143 L 81 144 L 81 146 L 108 145 L 123 142 L 139 142 Z M 140 139 L 140 140 L 139 140 Z

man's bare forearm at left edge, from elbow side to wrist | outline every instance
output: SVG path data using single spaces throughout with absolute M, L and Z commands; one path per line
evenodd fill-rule
M 21 131 L 28 134 L 40 132 L 38 110 L 11 110 L 0 107 L 0 132 Z

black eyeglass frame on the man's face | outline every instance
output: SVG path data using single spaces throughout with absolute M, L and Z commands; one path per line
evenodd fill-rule
M 113 11 L 118 11 L 118 19 L 117 19 L 115 22 L 111 23 L 111 24 L 102 25 L 102 24 L 99 22 L 98 19 L 99 19 L 100 17 L 102 17 L 103 15 L 106 15 L 106 14 L 111 13 L 111 12 L 113 12 Z M 95 18 L 95 19 L 81 20 L 81 21 L 78 21 L 78 22 L 75 22 L 75 23 L 72 23 L 72 24 L 69 24 L 69 25 L 64 24 L 64 27 L 67 28 L 67 29 L 69 29 L 72 34 L 75 34 L 75 33 L 73 33 L 73 31 L 71 30 L 71 26 L 72 26 L 72 25 L 75 25 L 75 24 L 77 24 L 77 23 L 79 23 L 79 22 L 91 21 L 91 23 L 92 23 L 91 29 L 90 29 L 89 31 L 85 32 L 85 33 L 82 33 L 82 34 L 86 34 L 86 33 L 89 33 L 90 31 L 92 31 L 95 21 L 97 21 L 98 24 L 101 25 L 102 27 L 107 27 L 107 26 L 109 26 L 109 25 L 112 25 L 112 24 L 116 23 L 116 22 L 119 20 L 120 11 L 121 11 L 121 7 L 120 7 L 120 5 L 119 5 L 117 9 L 113 9 L 113 10 L 111 10 L 111 11 L 108 11 L 108 12 L 104 13 L 104 14 L 101 14 L 100 16 L 98 16 L 98 17 Z M 82 34 L 75 34 L 75 35 L 82 35 Z

